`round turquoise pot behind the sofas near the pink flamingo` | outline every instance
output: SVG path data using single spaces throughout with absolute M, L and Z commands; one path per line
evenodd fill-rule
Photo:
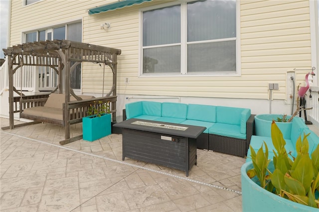
M 264 137 L 271 137 L 271 123 L 273 120 L 277 120 L 277 118 L 282 118 L 282 114 L 259 114 L 255 116 L 255 131 L 256 135 L 264 136 Z M 287 115 L 289 119 L 291 115 Z M 300 118 L 300 117 L 294 117 Z M 283 133 L 285 139 L 290 139 L 291 135 L 291 127 L 292 122 L 277 122 L 277 126 L 279 127 L 280 131 Z

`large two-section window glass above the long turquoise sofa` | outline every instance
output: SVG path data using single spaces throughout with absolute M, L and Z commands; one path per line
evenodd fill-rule
M 236 1 L 142 12 L 143 74 L 236 74 Z

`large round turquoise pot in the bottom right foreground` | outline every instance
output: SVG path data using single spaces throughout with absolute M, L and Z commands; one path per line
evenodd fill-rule
M 272 164 L 271 164 L 272 165 Z M 260 187 L 257 177 L 250 179 L 247 170 L 253 168 L 252 162 L 241 167 L 242 209 L 243 212 L 318 212 L 313 207 L 295 203 L 279 197 Z

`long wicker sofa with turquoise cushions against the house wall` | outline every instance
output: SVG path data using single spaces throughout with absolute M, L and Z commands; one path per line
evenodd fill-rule
M 245 157 L 254 130 L 250 109 L 141 101 L 126 104 L 123 120 L 138 118 L 204 126 L 197 148 Z

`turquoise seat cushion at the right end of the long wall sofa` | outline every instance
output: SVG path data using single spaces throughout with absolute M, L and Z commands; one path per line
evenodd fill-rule
M 208 130 L 209 134 L 246 139 L 246 134 L 240 133 L 240 126 L 226 123 L 215 123 Z

